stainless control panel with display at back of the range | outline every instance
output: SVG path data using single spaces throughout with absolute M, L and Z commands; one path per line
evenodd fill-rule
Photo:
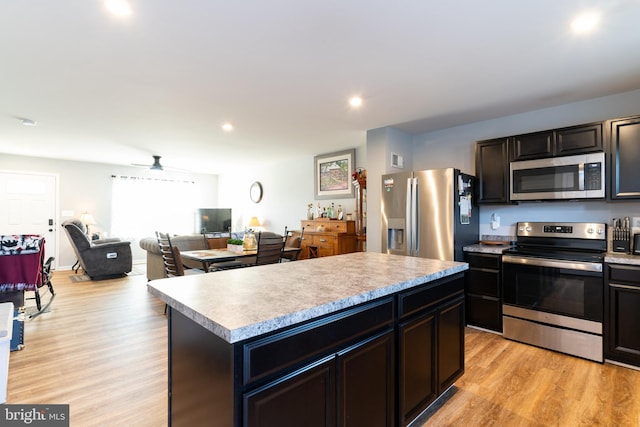
M 566 239 L 607 239 L 607 225 L 593 222 L 519 222 L 518 237 L 552 237 Z

